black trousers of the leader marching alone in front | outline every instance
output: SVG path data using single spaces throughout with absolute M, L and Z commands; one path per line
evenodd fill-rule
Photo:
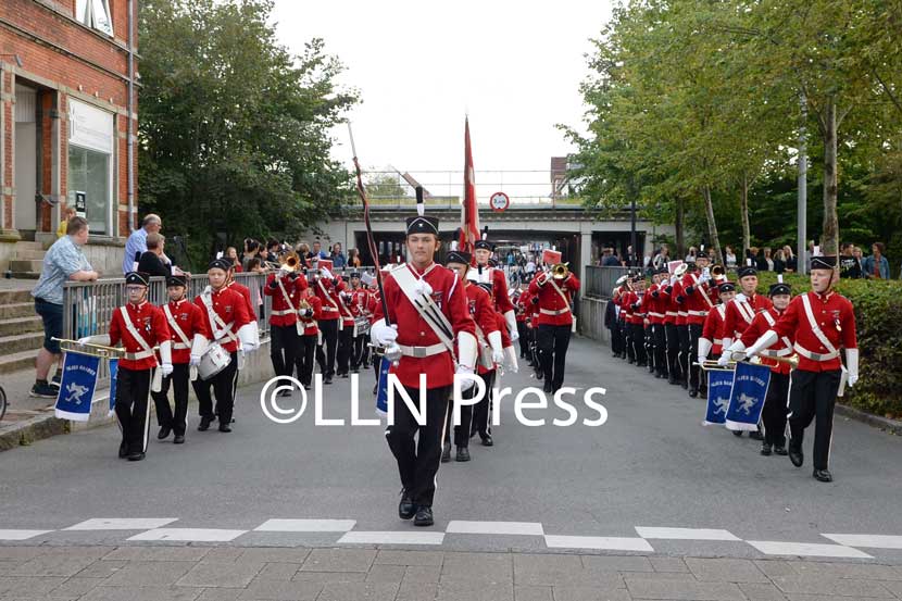
M 419 390 L 406 387 L 405 390 L 417 404 Z M 401 395 L 394 396 L 394 424 L 386 428 L 385 437 L 398 462 L 401 485 L 417 505 L 433 505 L 450 397 L 450 386 L 429 388 L 426 392 L 426 423 L 419 426 Z M 417 433 L 419 437 L 414 442 Z

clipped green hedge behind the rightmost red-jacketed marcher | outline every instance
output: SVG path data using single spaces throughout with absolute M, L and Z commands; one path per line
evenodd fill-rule
M 809 278 L 785 275 L 792 293 L 811 290 Z M 759 292 L 777 281 L 773 272 L 759 274 Z M 842 400 L 862 411 L 902 418 L 902 283 L 841 279 L 837 291 L 852 301 L 859 337 L 860 376 Z

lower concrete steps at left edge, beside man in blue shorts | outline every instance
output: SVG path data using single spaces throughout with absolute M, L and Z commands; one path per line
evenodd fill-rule
M 35 366 L 43 325 L 28 290 L 0 290 L 0 374 Z

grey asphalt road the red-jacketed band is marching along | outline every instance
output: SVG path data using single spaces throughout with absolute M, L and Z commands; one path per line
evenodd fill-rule
M 538 383 L 540 384 L 540 383 Z M 449 521 L 541 523 L 544 534 L 636 537 L 636 527 L 727 529 L 744 540 L 830 542 L 826 533 L 902 535 L 902 441 L 837 416 L 832 484 L 806 464 L 763 458 L 759 443 L 704 427 L 704 402 L 682 388 L 612 359 L 606 348 L 575 339 L 566 384 L 577 388 L 579 420 L 598 417 L 581 401 L 590 387 L 607 410 L 598 427 L 551 424 L 567 415 L 551 405 L 529 410 L 547 425 L 517 423 L 512 397 L 502 403 L 496 446 L 474 439 L 473 461 L 443 464 L 438 474 L 436 528 Z M 536 386 L 528 371 L 505 375 L 515 391 Z M 372 372 L 361 374 L 362 417 L 373 417 Z M 88 518 L 167 517 L 173 526 L 252 530 L 271 518 L 354 519 L 359 530 L 413 530 L 396 515 L 400 483 L 380 426 L 314 426 L 313 406 L 293 424 L 268 421 L 261 386 L 241 389 L 233 434 L 196 431 L 187 443 L 152 440 L 147 460 L 116 458 L 118 430 L 104 427 L 57 437 L 0 454 L 0 529 L 60 530 Z M 350 380 L 324 388 L 327 417 L 349 421 Z M 287 400 L 283 400 L 288 405 Z M 155 435 L 155 425 L 152 435 Z M 130 533 L 134 534 L 134 533 Z M 51 541 L 121 541 L 116 531 L 55 531 Z M 273 536 L 273 535 L 268 535 Z M 283 534 L 251 543 L 334 542 L 335 537 Z M 299 538 L 300 537 L 300 538 Z M 36 540 L 40 540 L 40 537 Z M 461 549 L 538 548 L 540 538 L 491 541 L 455 535 Z M 754 554 L 726 541 L 654 543 L 667 553 Z M 881 556 L 902 560 L 902 551 Z

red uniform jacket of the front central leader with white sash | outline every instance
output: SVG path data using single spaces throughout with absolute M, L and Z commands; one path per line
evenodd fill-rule
M 476 324 L 467 310 L 464 284 L 458 279 L 454 272 L 436 263 L 431 263 L 423 273 L 417 272 L 416 267 L 410 264 L 396 268 L 410 270 L 415 276 L 425 279 L 433 288 L 433 300 L 451 324 L 455 342 L 456 336 L 462 331 L 468 333 L 474 338 L 476 337 Z M 391 274 L 383 279 L 383 286 L 386 304 L 388 305 L 388 322 L 399 325 L 397 340 L 399 345 L 430 347 L 441 342 L 429 324 L 408 300 Z M 379 302 L 376 304 L 374 317 L 379 321 L 385 316 L 383 303 Z M 391 366 L 390 373 L 396 374 L 402 385 L 412 388 L 418 388 L 419 374 L 426 374 L 427 388 L 441 388 L 453 384 L 454 371 L 451 353 L 443 352 L 426 358 L 403 355 L 397 366 Z

